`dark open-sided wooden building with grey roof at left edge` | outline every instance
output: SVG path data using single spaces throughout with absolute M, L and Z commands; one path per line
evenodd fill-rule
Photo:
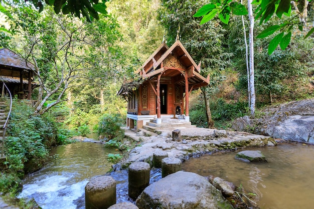
M 9 49 L 0 49 L 0 82 L 8 86 L 12 96 L 32 99 L 32 91 L 37 86 L 33 82 L 34 70 L 35 66 L 20 55 Z M 0 90 L 4 94 L 8 93 L 2 84 Z

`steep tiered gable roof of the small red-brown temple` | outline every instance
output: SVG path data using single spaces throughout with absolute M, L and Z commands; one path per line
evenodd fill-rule
M 176 83 L 182 86 L 185 86 L 182 74 L 187 73 L 189 86 L 192 89 L 209 84 L 209 76 L 204 78 L 200 72 L 200 65 L 195 63 L 179 40 L 170 48 L 165 43 L 162 43 L 144 64 L 135 71 L 142 81 L 155 79 L 155 77 L 163 73 L 163 76 L 173 77 Z M 118 95 L 126 91 L 126 89 L 137 88 L 141 83 L 139 80 L 125 81 L 123 83 L 124 87 L 122 85 Z

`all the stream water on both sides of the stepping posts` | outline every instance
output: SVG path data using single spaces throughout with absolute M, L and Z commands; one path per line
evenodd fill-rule
M 235 152 L 220 152 L 190 158 L 182 170 L 203 176 L 219 176 L 242 185 L 256 194 L 262 209 L 312 208 L 314 199 L 314 146 L 279 144 L 275 147 L 249 148 L 260 150 L 267 163 L 247 163 L 234 159 Z M 43 209 L 85 208 L 85 185 L 95 175 L 111 168 L 108 153 L 119 153 L 97 143 L 74 143 L 52 150 L 55 159 L 24 179 L 20 197 L 34 197 Z M 150 183 L 161 178 L 161 169 L 152 169 Z M 117 183 L 117 202 L 132 201 L 127 195 L 127 171 L 110 174 Z

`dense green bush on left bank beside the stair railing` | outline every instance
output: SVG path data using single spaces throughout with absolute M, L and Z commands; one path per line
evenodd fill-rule
M 34 109 L 24 101 L 14 101 L 8 136 L 5 141 L 9 168 L 24 169 L 32 160 L 41 165 L 56 145 L 57 125 L 49 115 L 34 115 Z

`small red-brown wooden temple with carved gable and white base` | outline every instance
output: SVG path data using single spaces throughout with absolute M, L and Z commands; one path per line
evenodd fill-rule
M 178 39 L 170 48 L 163 42 L 137 69 L 139 78 L 125 81 L 118 92 L 127 100 L 127 127 L 161 124 L 164 118 L 190 123 L 189 95 L 209 84 L 200 72 Z

